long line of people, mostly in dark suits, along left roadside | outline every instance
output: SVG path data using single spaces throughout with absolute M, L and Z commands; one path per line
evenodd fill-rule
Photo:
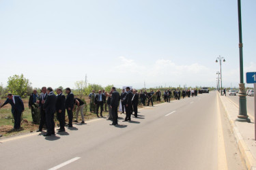
M 83 114 L 83 109 L 85 107 L 85 103 L 79 99 L 75 98 L 74 94 L 71 92 L 70 88 L 66 88 L 66 96 L 63 95 L 62 89 L 57 88 L 57 95 L 53 92 L 53 88 L 51 87 L 42 87 L 41 94 L 37 94 L 37 90 L 33 90 L 33 93 L 29 97 L 29 108 L 31 109 L 35 103 L 39 105 L 40 109 L 40 123 L 39 129 L 37 132 L 42 132 L 44 126 L 46 126 L 46 134 L 44 136 L 55 135 L 55 113 L 57 113 L 57 120 L 59 121 L 59 129 L 58 132 L 64 132 L 65 126 L 71 128 L 73 126 L 73 112 L 76 109 L 76 120 L 74 122 L 79 122 L 79 112 L 81 113 L 81 124 L 85 123 L 85 118 Z M 160 90 L 154 92 L 151 90 L 147 92 L 147 90 L 140 90 L 138 92 L 135 89 L 130 89 L 130 87 L 126 87 L 122 90 L 121 94 L 117 92 L 115 87 L 111 88 L 110 92 L 105 92 L 105 90 L 99 90 L 98 94 L 96 94 L 95 90 L 89 94 L 90 99 L 90 112 L 95 112 L 98 118 L 103 117 L 102 112 L 107 111 L 107 107 L 109 109 L 109 118 L 108 120 L 112 120 L 112 124 L 117 125 L 117 109 L 120 105 L 122 105 L 122 113 L 126 114 L 126 118 L 123 122 L 131 121 L 131 115 L 134 115 L 134 118 L 138 116 L 138 105 L 150 105 L 153 106 L 153 99 L 156 101 L 161 101 L 161 98 L 165 100 L 165 102 L 170 102 L 171 97 L 176 100 L 180 100 L 180 97 L 194 97 L 197 96 L 197 89 L 189 89 L 189 90 L 165 90 L 162 94 Z M 20 119 L 21 114 L 24 112 L 24 104 L 19 96 L 8 94 L 8 99 L 6 99 L 5 103 L 0 106 L 10 103 L 12 105 L 12 115 L 14 117 L 14 129 L 20 129 Z M 100 109 L 100 116 L 99 116 Z M 66 112 L 68 113 L 68 123 L 66 124 Z M 33 114 L 33 109 L 31 109 L 32 118 L 35 114 Z M 35 118 L 33 118 L 34 120 Z

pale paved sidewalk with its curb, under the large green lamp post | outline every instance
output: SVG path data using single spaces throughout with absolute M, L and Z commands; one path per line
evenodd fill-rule
M 221 96 L 218 93 L 218 96 L 221 99 L 221 103 L 225 108 L 227 117 L 232 126 L 233 134 L 236 137 L 236 143 L 241 152 L 242 158 L 246 163 L 247 169 L 256 170 L 256 141 L 255 141 L 255 128 L 254 128 L 254 118 L 249 116 L 251 122 L 238 122 L 239 108 L 238 105 L 233 103 L 228 97 Z

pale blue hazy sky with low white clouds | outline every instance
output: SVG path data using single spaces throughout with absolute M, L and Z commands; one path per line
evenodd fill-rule
M 256 1 L 242 1 L 244 75 L 256 72 Z M 238 4 L 233 0 L 0 0 L 0 83 L 118 88 L 240 83 Z M 244 82 L 246 78 L 244 76 Z M 253 86 L 246 84 L 246 86 Z

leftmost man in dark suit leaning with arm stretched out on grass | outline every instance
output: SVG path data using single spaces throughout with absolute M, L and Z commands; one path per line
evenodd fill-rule
M 12 105 L 12 115 L 14 116 L 14 129 L 20 129 L 21 114 L 24 112 L 23 101 L 19 96 L 14 96 L 12 94 L 8 94 L 7 97 L 8 98 L 6 99 L 5 103 L 0 106 L 0 109 L 4 105 L 10 103 L 10 105 Z

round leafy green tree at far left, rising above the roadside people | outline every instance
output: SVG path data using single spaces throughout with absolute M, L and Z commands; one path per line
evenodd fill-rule
M 27 88 L 31 83 L 23 74 L 21 74 L 9 77 L 7 84 L 8 92 L 11 92 L 14 95 L 19 95 L 20 97 L 25 97 Z

